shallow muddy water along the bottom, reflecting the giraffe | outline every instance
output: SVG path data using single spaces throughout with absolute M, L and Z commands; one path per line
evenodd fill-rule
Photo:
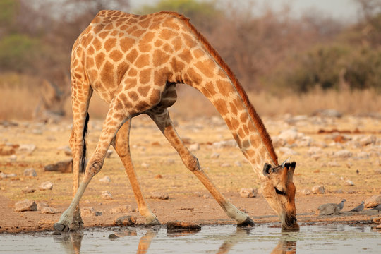
M 381 253 L 381 232 L 345 224 L 301 226 L 298 232 L 269 224 L 202 226 L 193 233 L 165 227 L 85 229 L 61 235 L 2 234 L 0 253 Z

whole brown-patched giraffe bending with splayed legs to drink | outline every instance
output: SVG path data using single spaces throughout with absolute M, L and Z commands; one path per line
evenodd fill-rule
M 261 183 L 262 194 L 278 214 L 283 229 L 296 223 L 295 162 L 278 164 L 270 135 L 229 66 L 196 30 L 175 12 L 138 16 L 100 11 L 79 35 L 71 54 L 73 129 L 73 200 L 54 224 L 56 231 L 80 229 L 79 202 L 85 188 L 102 168 L 110 145 L 121 158 L 147 224 L 159 224 L 143 198 L 129 148 L 131 119 L 147 114 L 179 153 L 183 164 L 212 194 L 238 225 L 253 225 L 217 190 L 176 133 L 168 107 L 176 102 L 176 84 L 200 91 L 212 102 L 229 127 L 238 147 Z M 109 104 L 95 152 L 85 165 L 85 133 L 92 92 Z M 79 172 L 85 168 L 82 181 Z

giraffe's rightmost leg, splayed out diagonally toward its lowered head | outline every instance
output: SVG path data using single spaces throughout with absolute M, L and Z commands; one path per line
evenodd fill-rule
M 207 177 L 205 172 L 200 167 L 198 159 L 188 150 L 179 135 L 176 133 L 174 125 L 169 117 L 168 110 L 162 109 L 157 111 L 150 111 L 148 114 L 152 120 L 155 121 L 167 140 L 169 140 L 169 143 L 171 143 L 171 145 L 179 153 L 186 167 L 188 167 L 188 169 L 190 169 L 193 174 L 195 174 L 195 176 L 202 182 L 205 188 L 207 188 L 210 194 L 212 194 L 214 199 L 222 207 L 224 212 L 232 219 L 235 219 L 239 226 L 253 225 L 253 220 L 250 219 L 247 214 L 238 210 L 234 205 L 231 204 L 231 202 L 226 200 L 226 198 L 224 198 L 224 196 L 214 186 L 212 181 L 210 181 L 210 179 Z

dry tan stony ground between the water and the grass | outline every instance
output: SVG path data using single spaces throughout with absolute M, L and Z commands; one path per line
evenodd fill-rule
M 294 183 L 297 189 L 296 212 L 301 226 L 311 222 L 370 223 L 380 216 L 375 210 L 365 209 L 359 214 L 349 210 L 362 200 L 381 193 L 381 119 L 283 116 L 264 118 L 263 121 L 273 138 L 279 161 L 291 157 L 297 163 Z M 260 185 L 238 147 L 230 142 L 224 145 L 219 143 L 232 139 L 222 119 L 181 119 L 176 125 L 179 135 L 189 147 L 198 144 L 199 149 L 194 145 L 193 153 L 226 198 L 257 223 L 278 222 L 274 211 L 260 194 L 255 198 L 241 198 L 241 188 L 259 188 Z M 102 121 L 90 119 L 87 136 L 89 156 L 101 128 Z M 287 136 L 284 131 L 296 135 Z M 16 174 L 0 178 L 0 233 L 53 230 L 52 225 L 71 202 L 73 180 L 70 173 L 44 171 L 44 166 L 71 158 L 65 152 L 70 132 L 69 120 L 59 123 L 0 123 L 0 171 L 3 176 Z M 35 145 L 35 149 L 21 150 L 20 147 L 25 144 Z M 183 166 L 176 151 L 147 116 L 133 119 L 131 154 L 146 201 L 162 224 L 174 220 L 199 224 L 235 223 Z M 37 176 L 24 176 L 25 169 L 29 168 L 35 169 Z M 99 181 L 104 176 L 109 176 L 111 181 Z M 40 184 L 47 181 L 53 183 L 52 190 L 40 191 Z M 325 193 L 308 194 L 313 186 L 319 185 L 324 186 Z M 24 193 L 27 187 L 36 191 Z M 112 199 L 103 199 L 102 191 L 109 191 Z M 151 198 L 152 193 L 167 193 L 169 199 Z M 320 205 L 339 203 L 343 198 L 346 203 L 342 214 L 315 215 Z M 46 202 L 59 212 L 14 212 L 15 203 L 25 199 Z M 137 212 L 123 165 L 113 152 L 80 202 L 81 208 L 92 207 L 102 212 L 100 216 L 83 216 L 85 227 L 111 226 L 116 217 L 126 215 L 111 211 L 121 205 L 131 205 L 135 211 L 126 214 L 137 217 L 138 223 L 145 222 Z

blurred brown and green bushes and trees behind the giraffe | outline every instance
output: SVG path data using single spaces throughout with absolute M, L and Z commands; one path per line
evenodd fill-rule
M 381 92 L 381 1 L 353 1 L 358 5 L 358 21 L 347 24 L 315 11 L 296 18 L 287 6 L 280 11 L 267 8 L 254 14 L 255 1 L 221 4 L 207 0 L 159 0 L 133 10 L 128 0 L 2 0 L 0 89 L 7 97 L 0 104 L 0 119 L 32 117 L 44 82 L 69 95 L 72 44 L 95 14 L 105 8 L 141 14 L 179 11 L 188 16 L 257 100 L 259 95 L 260 101 L 270 97 L 276 101 L 285 95 L 303 101 L 310 93 L 322 97 L 327 93 L 333 97 L 345 94 L 347 99 L 372 100 L 375 108 L 364 107 L 362 113 L 381 113 L 379 104 L 373 102 Z M 23 99 L 23 94 L 32 97 Z M 194 92 L 186 94 L 197 96 Z M 26 109 L 10 110 L 9 104 L 14 107 L 18 101 L 20 107 L 27 104 Z M 70 114 L 70 102 L 65 105 L 64 112 Z M 303 105 L 298 107 L 303 109 Z M 328 106 L 317 105 L 323 107 Z M 361 111 L 343 104 L 331 107 L 348 114 Z M 266 114 L 277 112 L 269 112 L 268 107 L 261 109 L 261 105 L 259 108 Z M 20 113 L 24 111 L 25 114 Z

